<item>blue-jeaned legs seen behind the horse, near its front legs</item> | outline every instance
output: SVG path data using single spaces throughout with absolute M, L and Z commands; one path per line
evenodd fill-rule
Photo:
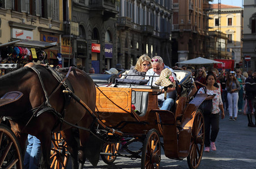
M 23 161 L 24 168 L 39 168 L 41 158 L 41 143 L 37 137 L 28 135 L 28 146 Z

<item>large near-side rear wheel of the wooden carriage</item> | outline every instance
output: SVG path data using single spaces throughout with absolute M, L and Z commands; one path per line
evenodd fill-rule
M 197 110 L 193 123 L 190 151 L 187 156 L 189 168 L 198 168 L 203 156 L 204 119 L 201 110 Z

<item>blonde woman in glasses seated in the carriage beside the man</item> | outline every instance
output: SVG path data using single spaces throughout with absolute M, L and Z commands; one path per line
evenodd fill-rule
M 131 66 L 131 69 L 126 75 L 127 79 L 144 79 L 148 69 L 151 69 L 151 59 L 150 56 L 144 54 L 139 57 L 135 66 Z

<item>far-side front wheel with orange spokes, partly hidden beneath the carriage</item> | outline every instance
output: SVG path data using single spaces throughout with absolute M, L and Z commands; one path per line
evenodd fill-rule
M 103 152 L 105 153 L 118 153 L 120 150 L 120 143 L 106 143 L 103 147 Z M 103 155 L 101 154 L 100 157 L 106 164 L 112 164 L 117 156 L 116 155 Z

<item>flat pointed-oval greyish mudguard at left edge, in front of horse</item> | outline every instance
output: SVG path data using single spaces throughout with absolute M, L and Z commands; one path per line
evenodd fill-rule
M 19 100 L 22 96 L 23 93 L 20 91 L 7 92 L 5 95 L 3 95 L 3 97 L 0 98 L 0 107 L 3 105 L 14 103 L 15 101 Z

